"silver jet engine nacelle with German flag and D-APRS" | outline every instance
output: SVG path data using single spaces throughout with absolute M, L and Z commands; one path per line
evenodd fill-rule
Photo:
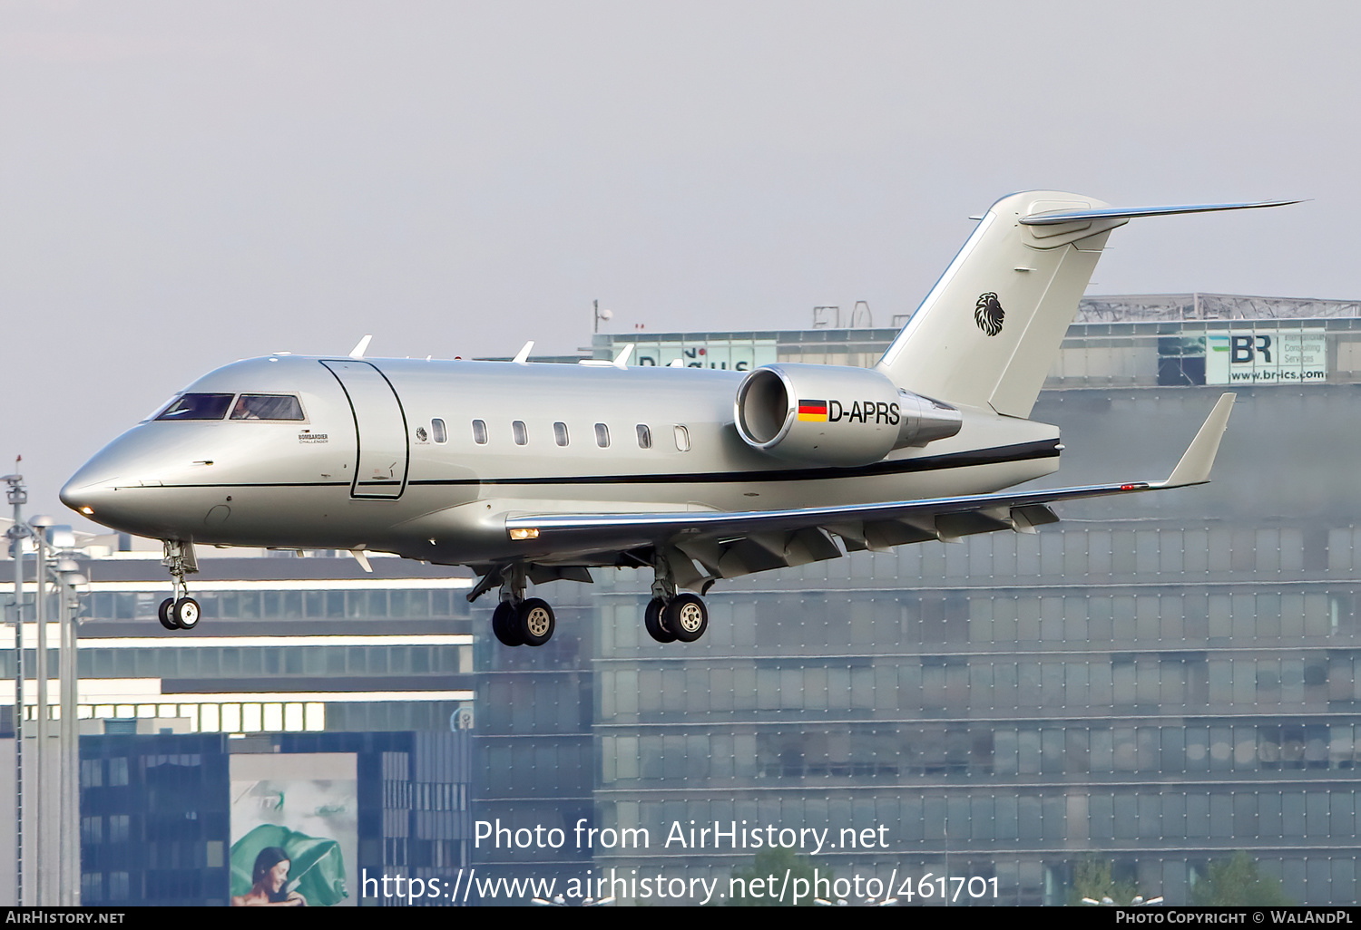
M 753 449 L 814 465 L 868 465 L 960 431 L 961 415 L 872 368 L 768 364 L 738 388 L 738 432 Z

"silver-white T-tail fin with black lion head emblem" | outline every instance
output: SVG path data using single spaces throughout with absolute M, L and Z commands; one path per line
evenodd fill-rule
M 925 397 L 1029 416 L 1111 230 L 1286 203 L 1298 201 L 1120 209 L 1059 190 L 1003 197 L 875 367 Z

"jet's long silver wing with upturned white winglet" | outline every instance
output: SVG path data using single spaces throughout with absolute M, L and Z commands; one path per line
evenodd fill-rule
M 506 533 L 534 553 L 629 552 L 663 547 L 682 570 L 691 560 L 702 566 L 676 582 L 704 586 L 715 578 L 834 559 L 841 549 L 885 549 L 927 540 L 951 541 L 973 533 L 1010 529 L 1033 533 L 1057 522 L 1048 504 L 1143 491 L 1165 491 L 1210 480 L 1210 468 L 1229 421 L 1234 394 L 1222 394 L 1172 475 L 1162 481 L 1126 481 L 1048 491 L 893 500 L 887 503 L 804 507 L 798 510 L 637 513 L 637 514 L 525 514 L 506 517 Z M 674 551 L 674 552 L 672 552 Z M 676 555 L 683 556 L 675 559 Z M 561 556 L 559 556 L 561 557 Z M 554 559 L 557 560 L 557 559 Z M 570 556 L 565 559 L 570 562 Z M 596 563 L 600 564 L 600 563 Z

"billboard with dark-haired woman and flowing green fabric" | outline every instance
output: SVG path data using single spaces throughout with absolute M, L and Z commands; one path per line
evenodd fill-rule
M 355 753 L 231 756 L 231 904 L 355 906 Z

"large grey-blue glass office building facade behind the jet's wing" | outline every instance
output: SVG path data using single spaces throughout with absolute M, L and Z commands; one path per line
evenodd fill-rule
M 685 649 L 641 630 L 649 574 L 606 579 L 596 817 L 652 843 L 599 850 L 597 867 L 727 881 L 750 863 L 664 846 L 675 823 L 886 825 L 889 848 L 814 859 L 881 881 L 949 859 L 951 876 L 996 878 L 999 903 L 1053 904 L 1097 858 L 1181 904 L 1245 850 L 1289 899 L 1353 904 L 1358 322 L 1270 324 L 1327 329 L 1327 382 L 1233 388 L 1210 485 L 1063 504 L 1034 536 L 720 582 L 709 632 Z M 1166 333 L 1070 330 L 1032 415 L 1067 449 L 1044 483 L 1168 473 L 1225 388 L 1160 386 Z

